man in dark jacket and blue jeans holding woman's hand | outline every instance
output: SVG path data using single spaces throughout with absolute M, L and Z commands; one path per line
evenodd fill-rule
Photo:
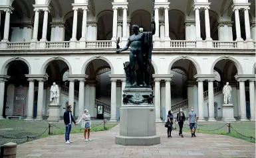
M 64 124 L 66 126 L 65 141 L 66 143 L 72 143 L 72 141 L 69 140 L 69 135 L 72 128 L 72 122 L 74 122 L 74 125 L 76 125 L 76 122 L 74 121 L 74 118 L 72 116 L 71 105 L 68 105 L 67 109 L 68 110 L 64 112 L 64 116 L 63 116 Z

